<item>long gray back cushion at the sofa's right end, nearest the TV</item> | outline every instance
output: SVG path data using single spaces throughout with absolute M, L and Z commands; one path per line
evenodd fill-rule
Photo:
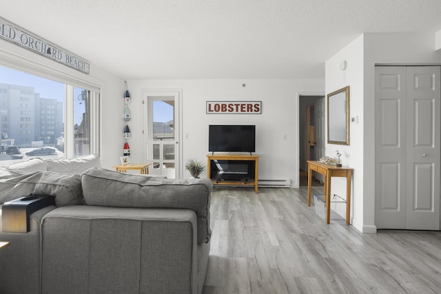
M 85 204 L 107 207 L 192 209 L 198 222 L 198 243 L 208 242 L 209 179 L 172 180 L 107 169 L 88 169 L 81 175 Z

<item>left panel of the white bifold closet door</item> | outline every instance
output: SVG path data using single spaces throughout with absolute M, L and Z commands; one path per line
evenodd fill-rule
M 406 67 L 376 67 L 376 227 L 406 228 Z

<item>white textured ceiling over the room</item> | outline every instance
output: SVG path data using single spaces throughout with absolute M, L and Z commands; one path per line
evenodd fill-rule
M 440 0 L 0 0 L 0 16 L 121 78 L 324 78 L 363 32 L 441 30 Z

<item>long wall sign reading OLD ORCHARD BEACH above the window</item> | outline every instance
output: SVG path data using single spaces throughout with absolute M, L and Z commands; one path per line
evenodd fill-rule
M 0 17 L 0 38 L 89 74 L 89 63 Z

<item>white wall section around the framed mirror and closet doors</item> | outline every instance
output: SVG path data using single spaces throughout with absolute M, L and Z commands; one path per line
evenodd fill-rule
M 351 116 L 359 117 L 357 125 L 351 124 L 351 145 L 327 145 L 327 155 L 335 156 L 338 149 L 343 164 L 354 169 L 352 224 L 364 233 L 376 232 L 375 65 L 440 65 L 441 52 L 434 48 L 435 34 L 362 34 L 326 62 L 326 92 L 349 85 Z M 338 67 L 342 60 L 348 64 L 346 72 Z M 344 193 L 344 181 L 333 180 L 333 185 L 334 191 Z

